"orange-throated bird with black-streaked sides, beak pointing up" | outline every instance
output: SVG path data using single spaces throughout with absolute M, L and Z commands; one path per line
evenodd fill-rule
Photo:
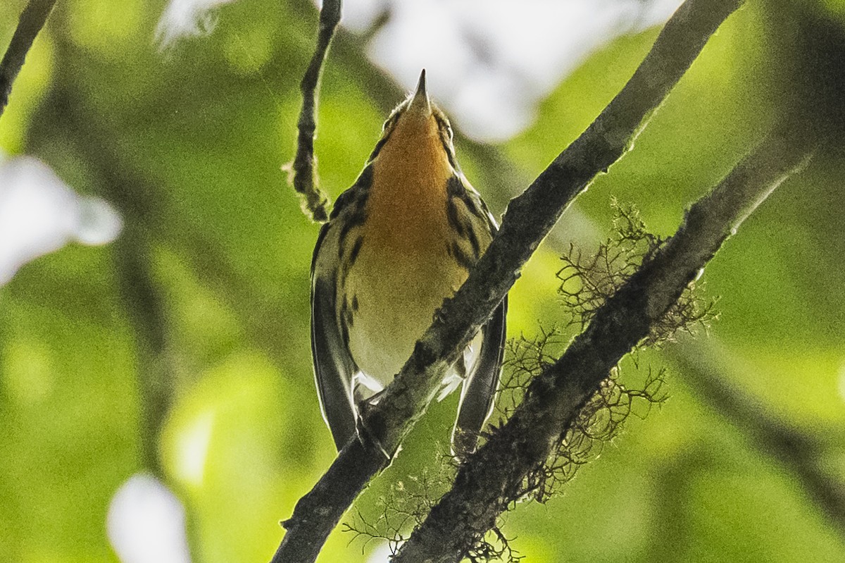
M 452 138 L 423 69 L 320 229 L 311 264 L 311 348 L 320 409 L 338 451 L 498 229 L 461 172 Z M 451 435 L 459 458 L 475 451 L 493 409 L 506 311 L 507 297 L 444 375 L 439 399 L 461 386 Z

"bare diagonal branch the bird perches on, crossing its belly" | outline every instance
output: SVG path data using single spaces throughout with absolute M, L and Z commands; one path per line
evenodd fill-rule
M 469 279 L 454 298 L 446 300 L 382 400 L 365 414 L 361 439 L 343 448 L 329 471 L 299 500 L 293 516 L 284 522 L 287 533 L 273 563 L 316 559 L 343 512 L 369 479 L 388 465 L 390 455 L 423 416 L 443 370 L 498 306 L 542 238 L 592 178 L 607 171 L 624 154 L 641 123 L 741 3 L 687 0 L 668 21 L 628 84 L 596 121 L 524 194 L 511 201 L 499 233 Z M 373 459 L 352 459 L 360 456 Z

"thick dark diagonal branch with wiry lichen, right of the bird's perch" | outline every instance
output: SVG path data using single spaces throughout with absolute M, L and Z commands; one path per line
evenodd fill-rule
M 402 546 L 395 563 L 459 561 L 544 462 L 587 399 L 645 338 L 739 224 L 806 159 L 773 136 L 695 203 L 679 231 L 619 288 L 566 353 L 526 390 L 507 424 L 470 456 L 449 493 Z

